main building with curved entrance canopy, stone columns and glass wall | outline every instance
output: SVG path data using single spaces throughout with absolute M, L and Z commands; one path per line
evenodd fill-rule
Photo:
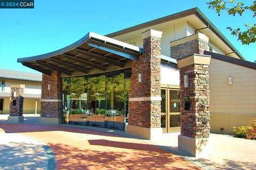
M 256 64 L 197 8 L 18 62 L 43 73 L 41 123 L 181 131 L 179 148 L 198 155 L 210 127 L 231 133 L 256 116 Z

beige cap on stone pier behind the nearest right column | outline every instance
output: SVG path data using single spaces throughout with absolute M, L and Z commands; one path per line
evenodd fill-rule
M 179 45 L 179 44 L 182 44 L 182 43 L 186 43 L 186 42 L 192 41 L 194 39 L 198 39 L 198 38 L 204 39 L 206 42 L 209 42 L 209 38 L 205 34 L 196 33 L 196 34 L 184 37 L 184 38 L 174 40 L 174 41 L 170 42 L 170 46 L 172 47 L 172 46 Z

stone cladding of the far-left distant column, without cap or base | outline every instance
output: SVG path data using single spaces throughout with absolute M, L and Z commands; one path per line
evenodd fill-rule
M 16 95 L 13 96 L 14 92 Z M 13 106 L 13 100 L 16 101 L 16 106 Z M 24 100 L 24 88 L 11 87 L 10 97 L 10 116 L 22 116 L 23 115 L 23 100 Z

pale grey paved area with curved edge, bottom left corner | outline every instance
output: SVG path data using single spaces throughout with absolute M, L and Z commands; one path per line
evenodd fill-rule
M 0 132 L 0 169 L 46 169 L 48 157 L 37 141 Z

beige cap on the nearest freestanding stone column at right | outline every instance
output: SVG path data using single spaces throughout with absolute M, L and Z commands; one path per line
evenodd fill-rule
M 185 58 L 178 59 L 177 64 L 178 68 L 189 66 L 191 64 L 207 64 L 209 65 L 211 61 L 211 55 L 201 55 L 193 54 L 186 56 Z

